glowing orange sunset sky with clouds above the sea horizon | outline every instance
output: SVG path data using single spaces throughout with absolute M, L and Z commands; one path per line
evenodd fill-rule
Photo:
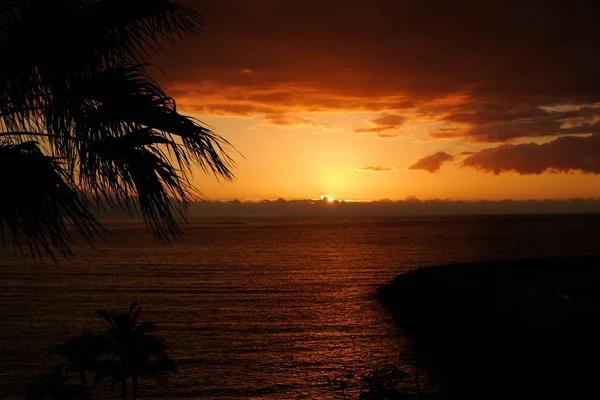
M 592 2 L 187 3 L 156 76 L 243 154 L 207 199 L 600 196 Z

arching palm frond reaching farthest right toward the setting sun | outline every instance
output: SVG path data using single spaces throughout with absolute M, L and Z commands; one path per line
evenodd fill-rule
M 122 134 L 129 126 L 144 126 L 166 137 L 179 138 L 182 146 L 174 148 L 174 156 L 182 168 L 190 161 L 204 172 L 227 180 L 233 178 L 234 162 L 227 154 L 231 145 L 198 120 L 177 112 L 175 100 L 165 95 L 145 71 L 144 65 L 121 66 L 104 71 L 84 85 L 85 98 L 96 107 L 87 116 L 78 137 L 98 132 L 98 127 Z

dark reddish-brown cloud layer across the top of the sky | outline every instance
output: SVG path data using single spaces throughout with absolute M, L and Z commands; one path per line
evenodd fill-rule
M 171 81 L 246 90 L 295 85 L 361 98 L 600 98 L 593 2 L 191 3 L 203 10 L 206 32 L 159 60 Z

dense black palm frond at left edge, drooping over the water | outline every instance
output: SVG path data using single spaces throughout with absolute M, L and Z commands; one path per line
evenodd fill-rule
M 70 254 L 69 226 L 92 242 L 101 231 L 88 211 L 88 204 L 60 162 L 42 153 L 37 142 L 0 145 L 0 232 L 7 244 L 7 232 L 16 248 L 29 248 L 32 255 L 54 249 Z M 8 172 L 10 171 L 10 173 Z

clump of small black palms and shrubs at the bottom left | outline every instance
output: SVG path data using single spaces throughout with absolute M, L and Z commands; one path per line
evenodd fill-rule
M 113 389 L 120 384 L 122 400 L 136 400 L 140 378 L 174 373 L 176 366 L 163 340 L 151 334 L 156 325 L 138 322 L 140 313 L 137 303 L 127 312 L 99 310 L 98 316 L 109 325 L 106 331 L 86 332 L 55 346 L 53 352 L 63 356 L 65 363 L 27 385 L 27 399 L 89 400 L 101 381 L 108 379 Z

